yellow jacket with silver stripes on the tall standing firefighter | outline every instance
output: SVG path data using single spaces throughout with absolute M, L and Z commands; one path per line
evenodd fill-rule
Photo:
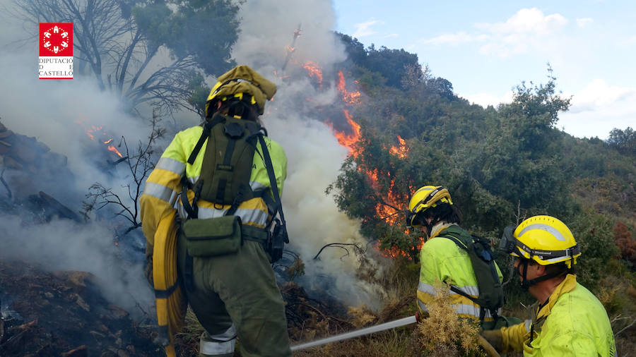
M 206 152 L 207 140 L 199 151 L 194 164 L 187 164 L 187 159 L 192 153 L 194 146 L 199 141 L 203 128 L 194 126 L 180 131 L 172 139 L 172 143 L 168 145 L 161 155 L 155 169 L 151 172 L 146 180 L 146 186 L 143 188 L 143 195 L 139 200 L 141 205 L 141 220 L 143 222 L 143 234 L 146 236 L 149 244 L 153 244 L 151 239 L 155 236 L 155 230 L 159 221 L 165 214 L 172 212 L 175 202 L 181 193 L 181 178 L 185 175 L 190 183 L 196 182 L 201 174 L 201 165 L 203 163 L 204 154 Z M 287 176 L 287 157 L 281 145 L 265 138 L 273 171 L 276 176 L 276 184 L 278 192 L 282 194 L 283 181 Z M 269 176 L 264 161 L 261 158 L 261 145 L 257 143 L 257 150 L 254 152 L 252 164 L 252 174 L 249 178 L 249 184 L 255 192 L 269 190 Z M 271 195 L 271 190 L 269 193 Z M 194 193 L 192 190 L 188 192 L 189 202 L 192 203 Z M 211 202 L 199 200 L 199 218 L 212 218 L 222 216 L 230 205 L 223 206 L 222 209 L 216 209 Z M 218 207 L 218 206 L 217 206 Z M 220 207 L 219 207 L 220 208 Z M 178 200 L 177 210 L 181 217 L 186 217 Z M 263 227 L 268 222 L 269 213 L 267 206 L 262 198 L 252 198 L 242 202 L 235 215 L 241 217 L 243 224 Z

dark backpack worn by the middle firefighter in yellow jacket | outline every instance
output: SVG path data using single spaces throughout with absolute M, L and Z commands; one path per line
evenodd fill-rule
M 440 237 L 454 241 L 461 250 L 468 253 L 477 279 L 479 296 L 473 298 L 465 291 L 459 289 L 459 287 L 453 285 L 450 287 L 451 291 L 469 298 L 473 303 L 480 306 L 479 320 L 481 322 L 483 322 L 486 310 L 490 312 L 496 322 L 499 317 L 497 310 L 504 303 L 504 295 L 499 274 L 497 274 L 497 267 L 495 266 L 495 253 L 490 247 L 490 241 L 487 238 L 473 236 L 464 231 L 464 229 L 459 228 L 459 226 L 450 226 Z

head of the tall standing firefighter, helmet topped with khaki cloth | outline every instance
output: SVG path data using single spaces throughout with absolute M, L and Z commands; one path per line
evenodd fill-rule
M 232 68 L 218 78 L 206 100 L 206 119 L 219 111 L 243 119 L 257 119 L 265 101 L 276 94 L 276 85 L 249 66 Z

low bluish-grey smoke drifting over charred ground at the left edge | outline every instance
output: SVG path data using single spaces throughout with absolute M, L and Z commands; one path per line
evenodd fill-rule
M 90 272 L 98 278 L 105 298 L 131 313 L 140 313 L 136 303 L 153 303 L 141 266 L 122 260 L 122 250 L 104 226 L 69 220 L 22 226 L 20 217 L 12 216 L 1 216 L 0 226 L 4 230 L 1 260 L 35 262 L 53 271 Z

